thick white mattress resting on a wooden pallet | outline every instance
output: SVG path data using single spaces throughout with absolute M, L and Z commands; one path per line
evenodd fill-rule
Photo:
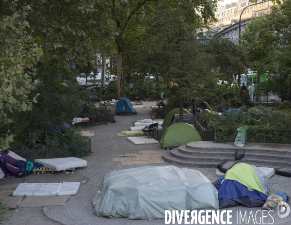
M 75 157 L 57 159 L 38 159 L 35 162 L 41 163 L 44 167 L 55 171 L 69 170 L 72 168 L 87 166 L 87 161 Z

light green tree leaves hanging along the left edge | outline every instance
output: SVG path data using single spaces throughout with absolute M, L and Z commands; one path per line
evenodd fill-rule
M 41 50 L 26 31 L 28 23 L 23 15 L 0 18 L 0 123 L 11 123 L 8 113 L 31 110 L 35 96 L 28 98 L 35 84 L 33 64 Z M 0 136 L 0 151 L 9 147 L 12 135 Z

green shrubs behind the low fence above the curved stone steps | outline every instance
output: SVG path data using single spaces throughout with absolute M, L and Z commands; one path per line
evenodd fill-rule
M 237 129 L 247 126 L 249 141 L 264 142 L 266 138 L 266 142 L 291 142 L 291 132 L 284 131 L 291 130 L 290 111 L 280 111 L 277 108 L 263 106 L 252 107 L 248 111 L 242 107 L 241 110 L 244 113 L 227 114 L 226 116 L 206 113 L 199 120 L 200 125 L 206 130 L 199 126 L 197 126 L 197 130 L 202 135 L 213 138 L 216 129 L 217 142 L 233 142 Z

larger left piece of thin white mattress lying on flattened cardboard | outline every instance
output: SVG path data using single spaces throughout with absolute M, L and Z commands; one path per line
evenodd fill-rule
M 13 196 L 47 196 L 57 195 L 62 183 L 20 183 Z

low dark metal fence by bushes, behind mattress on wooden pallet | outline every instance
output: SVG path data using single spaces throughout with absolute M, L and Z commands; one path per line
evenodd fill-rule
M 86 138 L 86 142 L 75 146 L 65 146 L 59 148 L 28 148 L 23 146 L 22 148 L 12 149 L 16 154 L 27 158 L 28 160 L 35 159 L 53 159 L 63 157 L 83 157 L 91 153 L 91 139 Z M 6 152 L 8 153 L 8 152 Z M 6 154 L 4 152 L 4 154 Z

